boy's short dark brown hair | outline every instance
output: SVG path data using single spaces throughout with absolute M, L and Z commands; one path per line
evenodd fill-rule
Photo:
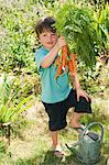
M 51 31 L 53 33 L 56 33 L 56 29 L 54 26 L 55 22 L 56 21 L 52 16 L 40 19 L 35 25 L 35 32 L 37 34 L 37 37 L 44 31 Z

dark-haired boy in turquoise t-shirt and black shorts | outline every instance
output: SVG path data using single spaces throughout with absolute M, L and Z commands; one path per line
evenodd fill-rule
M 58 130 L 66 127 L 66 114 L 70 107 L 75 107 L 70 120 L 70 127 L 83 129 L 79 120 L 83 113 L 91 113 L 90 99 L 81 90 L 77 74 L 73 76 L 75 89 L 68 84 L 68 73 L 57 78 L 57 68 L 54 65 L 59 50 L 67 45 L 64 36 L 58 36 L 54 26 L 55 20 L 51 16 L 41 19 L 35 25 L 35 32 L 42 47 L 35 52 L 35 62 L 42 79 L 42 102 L 48 114 L 48 127 L 51 131 L 54 155 L 63 156 L 58 142 Z

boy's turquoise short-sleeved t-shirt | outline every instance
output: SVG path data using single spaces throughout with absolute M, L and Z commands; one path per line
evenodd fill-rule
M 68 84 L 68 73 L 63 74 L 55 79 L 57 67 L 54 63 L 48 68 L 42 68 L 41 63 L 48 51 L 44 47 L 36 50 L 35 62 L 41 75 L 42 101 L 46 103 L 55 103 L 65 100 L 70 91 Z

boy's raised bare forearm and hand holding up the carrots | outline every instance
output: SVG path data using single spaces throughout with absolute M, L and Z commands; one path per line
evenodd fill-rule
M 63 36 L 57 38 L 55 46 L 50 51 L 50 53 L 43 58 L 41 66 L 47 68 L 52 65 L 55 57 L 57 56 L 58 51 L 66 45 L 66 41 Z

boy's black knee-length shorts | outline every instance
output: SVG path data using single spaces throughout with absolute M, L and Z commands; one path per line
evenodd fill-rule
M 66 113 L 69 108 L 74 107 L 74 111 L 77 113 L 91 113 L 91 101 L 87 101 L 84 97 L 77 101 L 76 91 L 70 90 L 68 97 L 56 103 L 45 103 L 45 111 L 48 114 L 48 128 L 51 131 L 62 130 L 66 127 Z

